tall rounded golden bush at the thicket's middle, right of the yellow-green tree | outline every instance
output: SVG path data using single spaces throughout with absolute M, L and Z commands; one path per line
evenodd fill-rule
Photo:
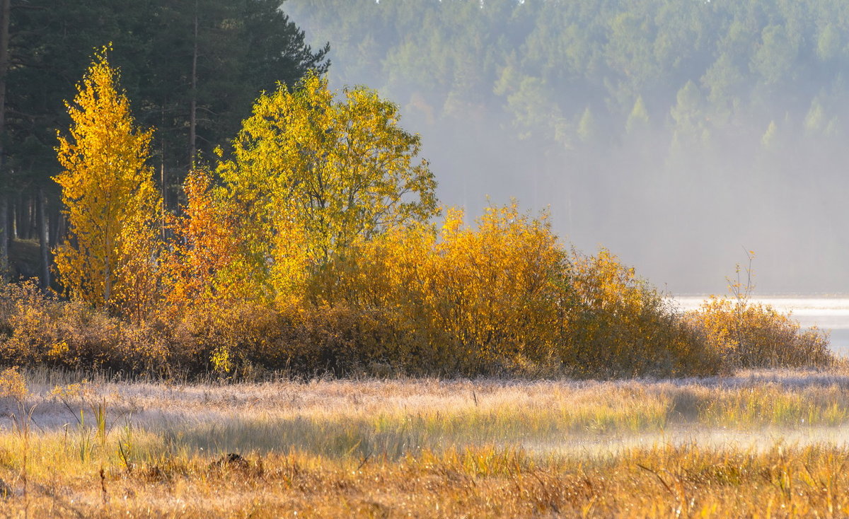
M 436 246 L 432 326 L 458 342 L 470 367 L 548 362 L 571 302 L 570 265 L 548 221 L 515 204 L 487 209 L 476 229 L 461 217 L 449 214 Z

